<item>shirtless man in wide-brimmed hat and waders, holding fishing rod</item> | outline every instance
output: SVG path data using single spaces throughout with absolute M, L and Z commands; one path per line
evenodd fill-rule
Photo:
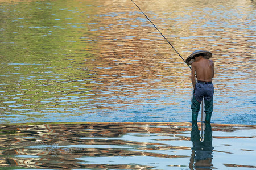
M 192 63 L 191 82 L 194 88 L 191 103 L 192 122 L 197 122 L 203 98 L 205 103 L 205 123 L 210 123 L 210 118 L 212 117 L 214 64 L 212 60 L 209 60 L 210 57 L 212 57 L 212 53 L 196 50 L 186 59 L 187 63 Z

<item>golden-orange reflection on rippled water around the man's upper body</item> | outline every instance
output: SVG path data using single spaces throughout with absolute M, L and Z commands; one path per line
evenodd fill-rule
M 110 3 L 112 1 L 105 1 L 106 6 L 111 6 Z M 122 3 L 122 7 L 131 7 L 130 1 Z M 245 14 L 241 17 L 228 15 L 234 10 L 236 3 L 241 5 L 238 12 L 247 10 L 243 11 Z M 245 23 L 250 22 L 249 11 L 253 7 L 251 1 L 228 2 L 225 8 L 222 2 L 214 2 L 215 7 L 218 8 L 216 11 L 222 15 L 218 15 L 219 13 L 213 10 L 214 6 L 208 6 L 209 3 L 205 4 L 208 7 L 203 11 L 195 10 L 200 3 L 187 1 L 180 5 L 172 1 L 157 1 L 157 5 L 156 1 L 149 3 L 138 1 L 138 4 L 153 22 L 159 25 L 163 34 L 184 58 L 195 49 L 205 48 L 213 52 L 217 79 L 214 82 L 218 94 L 240 91 L 237 88 L 227 90 L 225 86 L 227 82 L 232 82 L 232 86 L 235 87 L 233 83 L 239 83 L 241 80 L 248 79 L 251 82 L 253 77 L 247 74 L 246 70 L 250 70 L 249 73 L 255 71 L 255 67 L 251 65 L 255 54 L 255 48 L 252 46 L 254 30 L 245 26 Z M 187 7 L 185 10 L 184 6 Z M 104 14 L 105 8 L 103 10 Z M 112 10 L 118 12 L 119 8 Z M 161 13 L 162 11 L 164 14 Z M 192 19 L 194 16 L 200 17 Z M 102 83 L 108 88 L 119 83 L 128 83 L 134 93 L 141 88 L 149 88 L 154 93 L 159 86 L 189 88 L 190 70 L 137 8 L 132 11 L 127 8 L 127 11 L 118 13 L 114 20 L 105 17 L 104 23 L 113 23 L 113 25 L 110 29 L 100 31 L 101 38 L 97 42 L 100 47 L 98 54 L 100 67 L 95 70 L 97 74 L 102 75 L 104 79 Z M 241 24 L 244 28 L 236 28 L 234 24 Z M 185 94 L 187 91 L 180 93 Z

